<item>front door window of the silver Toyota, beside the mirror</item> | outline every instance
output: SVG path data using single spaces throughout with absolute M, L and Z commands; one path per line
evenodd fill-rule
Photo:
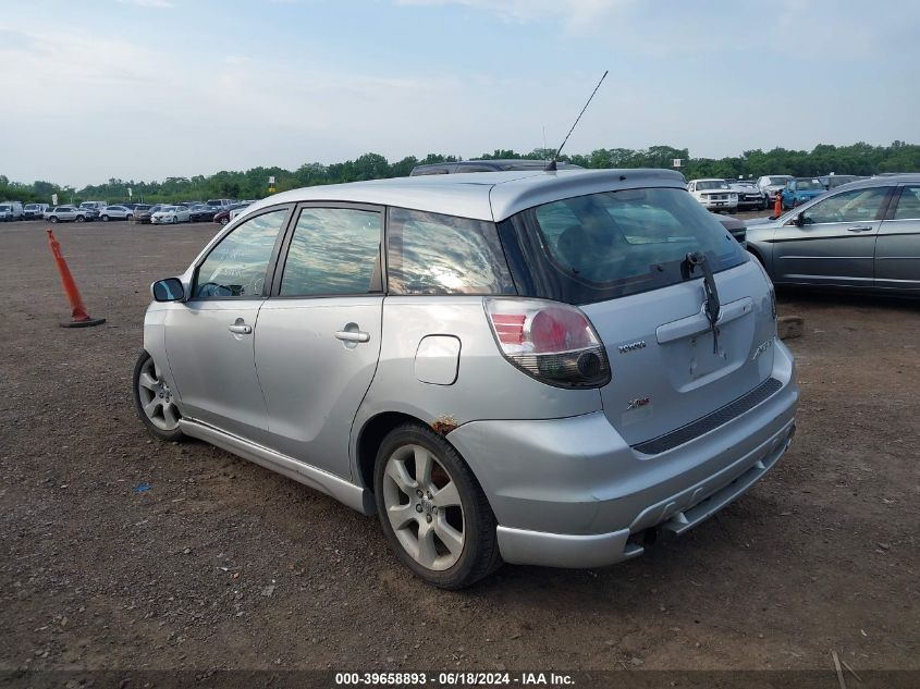
M 236 226 L 211 249 L 198 268 L 193 298 L 236 297 L 262 294 L 266 271 L 287 209 L 256 216 Z

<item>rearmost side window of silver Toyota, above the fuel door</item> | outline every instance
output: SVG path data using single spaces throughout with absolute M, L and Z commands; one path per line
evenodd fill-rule
M 390 209 L 387 268 L 393 294 L 514 294 L 491 222 Z

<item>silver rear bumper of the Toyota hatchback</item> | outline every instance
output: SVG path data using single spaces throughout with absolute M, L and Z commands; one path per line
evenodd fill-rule
M 502 557 L 513 564 L 598 567 L 642 552 L 633 534 L 683 533 L 743 495 L 795 432 L 798 387 L 778 341 L 770 397 L 655 455 L 637 452 L 598 411 L 567 419 L 474 421 L 449 435 L 486 491 Z M 499 459 L 500 458 L 500 459 Z

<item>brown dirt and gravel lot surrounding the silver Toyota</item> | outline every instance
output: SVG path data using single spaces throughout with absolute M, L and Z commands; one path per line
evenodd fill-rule
M 781 293 L 798 434 L 747 496 L 616 567 L 446 593 L 373 519 L 135 418 L 147 286 L 214 225 L 58 225 L 108 319 L 82 330 L 42 227 L 0 225 L 0 669 L 920 668 L 920 304 Z

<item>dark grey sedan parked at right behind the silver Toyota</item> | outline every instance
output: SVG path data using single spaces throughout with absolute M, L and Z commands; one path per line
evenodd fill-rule
M 747 232 L 776 284 L 920 296 L 920 174 L 845 184 Z

